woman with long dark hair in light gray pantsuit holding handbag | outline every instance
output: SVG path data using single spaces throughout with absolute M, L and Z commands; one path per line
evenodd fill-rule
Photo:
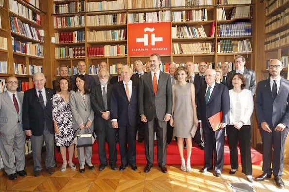
M 74 90 L 70 92 L 70 107 L 72 112 L 72 127 L 81 134 L 93 133 L 93 120 L 94 112 L 90 105 L 90 96 L 87 82 L 84 75 L 78 75 L 76 77 L 76 83 Z M 91 132 L 90 132 L 90 130 Z M 85 162 L 89 169 L 93 170 L 94 166 L 91 163 L 92 147 L 79 147 L 78 161 L 79 172 L 85 172 Z

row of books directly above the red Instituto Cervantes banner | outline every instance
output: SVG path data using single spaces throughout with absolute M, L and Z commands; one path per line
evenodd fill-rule
M 170 22 L 170 11 L 128 14 L 128 23 Z

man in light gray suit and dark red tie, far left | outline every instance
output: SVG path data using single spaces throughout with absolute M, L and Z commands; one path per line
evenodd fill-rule
M 25 133 L 22 130 L 23 93 L 16 91 L 18 88 L 16 77 L 8 77 L 6 87 L 7 91 L 0 94 L 0 152 L 8 178 L 16 180 L 16 172 L 20 176 L 27 175 L 24 170 Z

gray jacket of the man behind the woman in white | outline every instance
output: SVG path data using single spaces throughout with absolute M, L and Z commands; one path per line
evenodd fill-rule
M 236 70 L 233 70 L 227 74 L 226 85 L 229 89 L 233 89 L 232 78 L 233 78 L 235 73 L 236 73 Z M 255 71 L 251 70 L 251 69 L 244 69 L 243 75 L 246 79 L 246 87 L 245 88 L 249 89 L 252 92 L 252 94 L 254 95 L 256 92 L 256 88 L 257 88 Z

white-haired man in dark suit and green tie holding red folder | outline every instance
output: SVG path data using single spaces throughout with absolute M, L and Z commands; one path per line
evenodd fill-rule
M 205 72 L 207 85 L 200 88 L 198 93 L 198 119 L 202 122 L 204 133 L 205 166 L 202 173 L 213 169 L 215 176 L 221 176 L 224 167 L 225 127 L 230 118 L 230 96 L 225 85 L 215 83 L 216 71 L 207 69 Z M 222 111 L 220 129 L 213 131 L 209 118 Z M 214 158 L 213 158 L 214 154 Z M 214 160 L 214 163 L 213 163 Z

